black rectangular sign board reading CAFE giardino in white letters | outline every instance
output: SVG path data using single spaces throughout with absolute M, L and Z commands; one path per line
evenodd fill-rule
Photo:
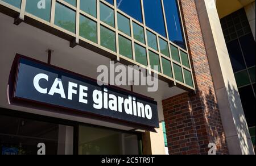
M 27 57 L 19 57 L 14 98 L 159 127 L 157 103 L 152 99 Z

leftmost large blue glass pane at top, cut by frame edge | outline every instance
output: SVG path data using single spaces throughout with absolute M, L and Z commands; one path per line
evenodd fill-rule
M 117 0 L 117 8 L 142 23 L 141 0 Z

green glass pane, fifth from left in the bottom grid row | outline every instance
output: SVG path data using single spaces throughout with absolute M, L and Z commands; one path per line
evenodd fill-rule
M 115 32 L 101 26 L 101 45 L 115 52 Z

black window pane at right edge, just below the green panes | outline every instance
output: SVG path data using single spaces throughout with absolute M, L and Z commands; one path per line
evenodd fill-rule
M 251 85 L 239 88 L 239 93 L 248 127 L 254 127 L 256 111 L 253 88 L 251 88 Z

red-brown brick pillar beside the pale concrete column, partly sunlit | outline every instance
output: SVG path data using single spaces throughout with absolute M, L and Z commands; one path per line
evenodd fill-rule
M 163 101 L 170 154 L 228 154 L 207 52 L 194 0 L 179 0 L 191 56 L 196 94 L 180 94 Z

